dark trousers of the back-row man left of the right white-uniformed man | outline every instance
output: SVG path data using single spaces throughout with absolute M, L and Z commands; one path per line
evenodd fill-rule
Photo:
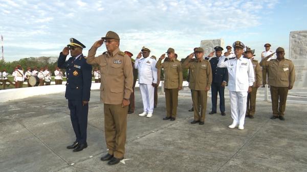
M 216 112 L 216 104 L 217 104 L 217 93 L 218 95 L 220 95 L 220 110 L 221 112 L 225 112 L 225 97 L 224 97 L 225 87 L 221 87 L 221 84 L 213 83 L 213 82 L 211 84 L 212 111 L 215 111 L 215 112 Z

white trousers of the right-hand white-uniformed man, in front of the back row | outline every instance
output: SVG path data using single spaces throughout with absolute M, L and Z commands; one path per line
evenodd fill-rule
M 247 92 L 229 91 L 231 118 L 235 125 L 244 125 L 247 94 Z

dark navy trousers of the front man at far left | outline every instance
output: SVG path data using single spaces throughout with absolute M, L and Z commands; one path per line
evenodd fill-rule
M 82 106 L 82 100 L 68 100 L 68 108 L 70 109 L 70 116 L 76 134 L 76 141 L 78 141 L 79 144 L 84 144 L 86 142 L 89 104 Z

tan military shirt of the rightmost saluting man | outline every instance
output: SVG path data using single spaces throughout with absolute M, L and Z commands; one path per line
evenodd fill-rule
M 267 60 L 268 58 L 262 59 L 260 66 L 267 67 L 269 70 L 269 85 L 274 87 L 289 87 L 290 85 L 293 86 L 295 81 L 295 69 L 291 60 Z

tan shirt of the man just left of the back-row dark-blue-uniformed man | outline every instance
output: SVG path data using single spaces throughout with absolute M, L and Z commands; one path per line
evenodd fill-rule
M 190 84 L 191 90 L 206 90 L 210 88 L 212 82 L 212 71 L 210 62 L 207 60 L 191 60 L 187 58 L 182 64 L 184 69 L 190 71 Z

